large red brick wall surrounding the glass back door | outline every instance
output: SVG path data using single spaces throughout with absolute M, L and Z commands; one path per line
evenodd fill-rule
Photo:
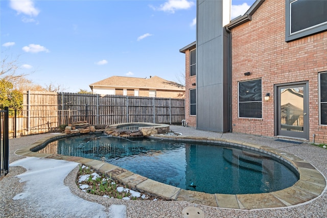
M 232 32 L 233 132 L 274 136 L 274 85 L 309 81 L 309 136 L 327 143 L 319 126 L 318 72 L 327 70 L 327 32 L 285 42 L 285 1 L 266 0 Z M 187 60 L 187 59 L 186 59 Z M 250 76 L 244 72 L 250 71 Z M 262 78 L 262 119 L 238 118 L 238 82 Z M 270 92 L 270 100 L 264 95 Z

